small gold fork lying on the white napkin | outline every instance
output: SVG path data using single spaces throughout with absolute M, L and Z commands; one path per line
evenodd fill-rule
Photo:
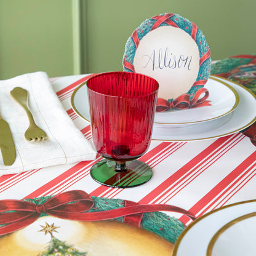
M 41 142 L 42 140 L 48 140 L 49 137 L 47 137 L 44 130 L 36 125 L 33 115 L 28 108 L 28 91 L 21 87 L 15 87 L 10 91 L 10 95 L 26 111 L 28 120 L 30 121 L 30 126 L 28 126 L 28 129 L 25 132 L 26 140 L 28 140 L 28 142 Z

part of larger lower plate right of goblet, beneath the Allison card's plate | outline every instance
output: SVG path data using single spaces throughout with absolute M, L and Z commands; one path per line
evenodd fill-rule
M 159 127 L 154 124 L 152 138 L 168 141 L 193 141 L 218 138 L 239 132 L 256 121 L 256 96 L 246 87 L 225 78 L 215 79 L 232 86 L 239 95 L 238 106 L 229 114 L 186 127 Z

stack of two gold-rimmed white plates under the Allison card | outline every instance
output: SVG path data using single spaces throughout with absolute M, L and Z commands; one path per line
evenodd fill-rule
M 256 97 L 246 87 L 210 76 L 206 85 L 210 106 L 156 113 L 153 140 L 190 141 L 239 132 L 256 121 Z M 90 121 L 86 84 L 71 96 L 73 110 Z

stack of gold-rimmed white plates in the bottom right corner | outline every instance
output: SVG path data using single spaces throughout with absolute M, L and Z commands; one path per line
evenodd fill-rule
M 172 256 L 256 255 L 256 201 L 220 207 L 191 223 Z

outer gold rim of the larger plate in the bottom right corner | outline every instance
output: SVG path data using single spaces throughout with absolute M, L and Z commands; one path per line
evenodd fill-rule
M 185 230 L 180 234 L 180 236 L 176 240 L 176 242 L 174 244 L 174 251 L 172 252 L 172 256 L 177 256 L 178 247 L 180 246 L 180 242 L 182 242 L 182 239 L 184 238 L 185 234 L 188 233 L 188 231 L 190 231 L 190 229 L 193 228 L 193 226 L 196 225 L 196 223 L 200 222 L 201 220 L 208 217 L 209 215 L 215 214 L 215 212 L 218 212 L 220 210 L 223 210 L 223 209 L 226 209 L 226 208 L 229 208 L 229 207 L 238 206 L 239 204 L 247 204 L 248 202 L 256 202 L 256 199 L 242 201 L 242 202 L 234 202 L 234 204 L 228 204 L 228 206 L 222 206 L 222 207 L 220 207 L 218 209 L 215 209 L 215 210 L 212 210 L 212 211 L 208 212 L 207 214 L 204 214 L 201 217 L 199 217 L 198 219 L 194 220 L 187 228 L 185 228 Z M 226 225 L 228 225 L 228 223 Z M 207 254 L 207 256 L 209 256 L 209 255 Z

